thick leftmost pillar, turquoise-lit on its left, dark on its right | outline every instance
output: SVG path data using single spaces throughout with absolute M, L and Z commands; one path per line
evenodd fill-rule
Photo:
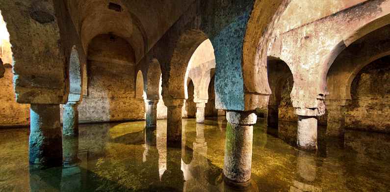
M 29 163 L 41 167 L 62 164 L 59 105 L 31 104 Z

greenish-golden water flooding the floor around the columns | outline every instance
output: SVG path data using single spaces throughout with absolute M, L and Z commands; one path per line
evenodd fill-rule
M 166 147 L 165 120 L 152 132 L 144 122 L 80 125 L 76 141 L 63 139 L 64 154 L 77 154 L 78 164 L 45 170 L 28 165 L 27 128 L 3 129 L 0 192 L 234 191 L 222 181 L 226 124 L 183 119 L 178 148 Z M 295 130 L 296 124 L 280 123 L 278 131 L 258 121 L 248 191 L 390 191 L 387 136 L 371 146 L 379 137 L 353 132 L 348 142 L 325 140 L 320 129 L 318 152 L 307 153 L 293 147 Z

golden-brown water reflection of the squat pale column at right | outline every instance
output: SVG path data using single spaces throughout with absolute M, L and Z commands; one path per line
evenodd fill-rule
M 293 180 L 293 186 L 290 187 L 290 192 L 321 192 L 321 188 L 316 187 L 317 180 L 317 165 L 315 154 L 299 151 L 297 156 L 297 180 Z

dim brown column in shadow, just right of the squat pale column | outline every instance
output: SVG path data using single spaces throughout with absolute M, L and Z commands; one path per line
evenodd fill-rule
M 325 100 L 325 104 L 328 111 L 326 135 L 328 137 L 343 137 L 346 100 Z

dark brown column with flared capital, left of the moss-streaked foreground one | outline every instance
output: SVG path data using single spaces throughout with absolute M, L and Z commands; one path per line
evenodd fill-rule
M 167 106 L 167 146 L 181 147 L 183 99 L 164 99 Z

